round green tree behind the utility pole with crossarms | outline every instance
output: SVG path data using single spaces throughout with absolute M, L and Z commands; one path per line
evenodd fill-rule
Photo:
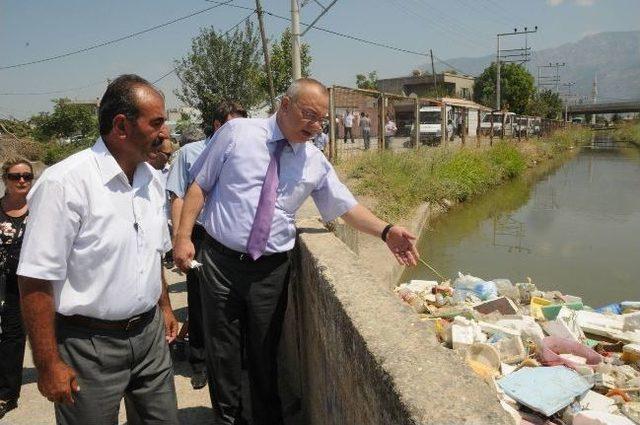
M 496 103 L 496 64 L 492 63 L 480 74 L 473 85 L 473 100 L 483 105 Z M 523 114 L 535 93 L 534 78 L 522 65 L 500 66 L 500 106 L 502 109 Z

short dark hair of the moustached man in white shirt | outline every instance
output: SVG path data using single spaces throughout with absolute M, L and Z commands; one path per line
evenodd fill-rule
M 121 75 L 109 83 L 102 100 L 100 100 L 98 110 L 98 125 L 101 136 L 106 136 L 111 132 L 113 119 L 118 114 L 124 114 L 131 121 L 138 118 L 140 109 L 135 88 L 139 86 L 147 86 L 161 95 L 150 82 L 135 74 Z

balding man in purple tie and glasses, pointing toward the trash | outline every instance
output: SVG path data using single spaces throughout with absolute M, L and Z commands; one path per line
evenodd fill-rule
M 253 423 L 282 424 L 276 354 L 295 214 L 308 196 L 323 220 L 342 217 L 360 231 L 381 236 L 400 264 L 416 264 L 415 237 L 358 204 L 325 156 L 306 143 L 321 131 L 328 99 L 326 87 L 318 81 L 297 80 L 276 115 L 228 122 L 192 167 L 195 179 L 185 197 L 175 258 L 180 268 L 189 268 L 195 252 L 191 229 L 204 207 L 207 235 L 199 261 L 215 423 L 240 420 L 244 327 Z

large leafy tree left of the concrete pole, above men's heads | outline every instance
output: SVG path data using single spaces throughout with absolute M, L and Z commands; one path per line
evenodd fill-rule
M 249 109 L 266 99 L 260 84 L 263 71 L 258 43 L 250 21 L 233 34 L 205 28 L 192 40 L 191 52 L 175 61 L 182 82 L 175 94 L 202 112 L 203 125 L 213 121 L 223 100 L 238 101 Z

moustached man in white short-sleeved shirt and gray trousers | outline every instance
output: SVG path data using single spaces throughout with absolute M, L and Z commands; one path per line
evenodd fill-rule
M 122 75 L 100 101 L 95 145 L 47 169 L 28 198 L 18 276 L 38 389 L 56 423 L 177 424 L 167 342 L 178 323 L 161 255 L 171 247 L 157 154 L 164 98 Z M 139 421 L 139 422 L 138 422 Z

